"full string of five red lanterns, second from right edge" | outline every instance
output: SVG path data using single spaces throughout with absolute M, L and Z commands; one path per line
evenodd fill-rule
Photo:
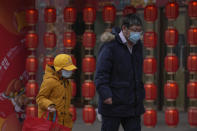
M 169 76 L 167 83 L 164 86 L 164 96 L 170 104 L 165 109 L 165 122 L 169 127 L 176 127 L 179 123 L 179 112 L 176 109 L 175 101 L 179 95 L 179 87 L 175 81 L 175 74 L 179 68 L 178 57 L 173 52 L 173 49 L 178 44 L 178 31 L 173 25 L 173 22 L 179 15 L 179 5 L 174 0 L 169 0 L 165 6 L 165 15 L 168 19 L 168 28 L 165 31 L 165 43 L 168 48 L 167 56 L 165 57 L 165 70 Z M 170 22 L 172 25 L 170 25 Z

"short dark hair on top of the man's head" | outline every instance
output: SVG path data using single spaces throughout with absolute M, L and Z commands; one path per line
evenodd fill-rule
M 133 26 L 133 25 L 143 26 L 142 20 L 136 14 L 128 14 L 128 15 L 124 16 L 124 18 L 122 20 L 122 26 L 123 25 L 126 26 L 127 28 L 129 28 L 130 26 Z

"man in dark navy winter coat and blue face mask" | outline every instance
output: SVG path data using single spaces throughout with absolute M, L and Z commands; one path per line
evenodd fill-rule
M 140 131 L 145 90 L 142 83 L 142 21 L 135 14 L 124 17 L 121 30 L 106 33 L 99 52 L 95 84 L 99 94 L 102 131 Z M 109 38 L 106 36 L 109 35 Z M 111 39 L 112 40 L 111 40 Z

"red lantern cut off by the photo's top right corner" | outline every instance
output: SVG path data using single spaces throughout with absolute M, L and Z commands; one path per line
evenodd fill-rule
M 191 0 L 188 4 L 188 15 L 191 18 L 197 18 L 197 1 Z

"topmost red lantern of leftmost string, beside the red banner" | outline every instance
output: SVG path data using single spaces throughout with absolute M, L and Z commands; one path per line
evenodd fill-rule
M 26 22 L 29 25 L 35 25 L 38 22 L 38 11 L 36 9 L 26 10 Z

